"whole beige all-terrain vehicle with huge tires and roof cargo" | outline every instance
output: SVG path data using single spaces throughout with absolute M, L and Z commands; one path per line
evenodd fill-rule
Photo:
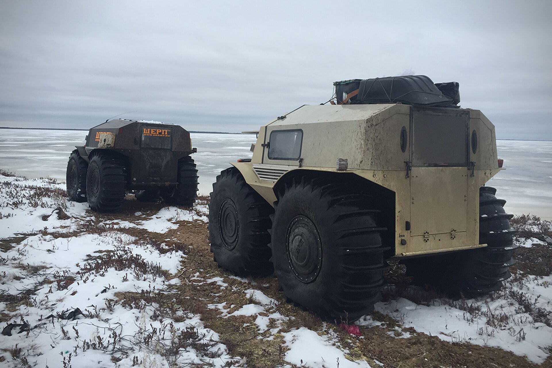
M 261 127 L 251 159 L 213 184 L 215 261 L 273 271 L 289 300 L 354 320 L 380 300 L 386 260 L 463 295 L 509 278 L 512 228 L 496 190 L 495 127 L 426 76 L 335 83 L 331 104 Z

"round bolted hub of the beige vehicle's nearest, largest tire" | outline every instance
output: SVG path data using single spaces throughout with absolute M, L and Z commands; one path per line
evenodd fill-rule
M 316 226 L 308 217 L 296 216 L 290 221 L 285 250 L 295 277 L 305 284 L 314 281 L 322 266 L 322 242 Z

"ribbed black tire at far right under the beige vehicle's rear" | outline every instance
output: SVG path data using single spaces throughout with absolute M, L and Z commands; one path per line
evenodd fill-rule
M 511 274 L 509 266 L 513 245 L 509 220 L 504 210 L 505 200 L 497 199 L 496 189 L 482 186 L 479 190 L 479 243 L 485 248 L 406 260 L 407 274 L 418 284 L 458 293 L 467 297 L 488 294 L 502 287 Z

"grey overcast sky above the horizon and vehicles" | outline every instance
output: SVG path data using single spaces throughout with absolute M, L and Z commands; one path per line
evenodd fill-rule
M 0 126 L 114 115 L 253 130 L 334 81 L 460 83 L 498 138 L 552 140 L 552 2 L 0 0 Z

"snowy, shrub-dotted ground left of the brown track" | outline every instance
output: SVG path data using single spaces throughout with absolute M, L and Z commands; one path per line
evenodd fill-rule
M 114 303 L 124 293 L 158 298 L 174 292 L 181 282 L 176 278 L 181 252 L 160 252 L 116 230 L 83 231 L 91 220 L 87 204 L 65 201 L 59 195 L 62 186 L 51 180 L 0 175 L 0 186 L 0 239 L 6 250 L 0 253 L 0 313 L 9 316 L 0 348 L 8 353 L 23 349 L 2 364 L 221 367 L 241 361 L 227 355 L 217 333 L 205 328 L 197 314 L 177 309 L 176 316 L 163 316 L 156 303 Z M 162 233 L 167 226 L 178 227 L 172 221 L 194 220 L 205 217 L 166 207 L 123 226 Z M 20 241 L 22 233 L 27 236 Z

